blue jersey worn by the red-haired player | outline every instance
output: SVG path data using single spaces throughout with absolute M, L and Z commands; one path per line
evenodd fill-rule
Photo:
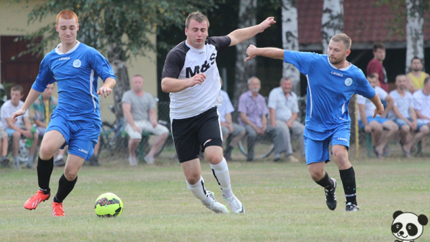
M 112 67 L 103 55 L 84 43 L 78 41 L 65 54 L 58 50 L 60 45 L 43 58 L 32 88 L 43 92 L 56 81 L 58 103 L 54 114 L 68 121 L 93 120 L 101 124 L 97 79 L 115 79 Z

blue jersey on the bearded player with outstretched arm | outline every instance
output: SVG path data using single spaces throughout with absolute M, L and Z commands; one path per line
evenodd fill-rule
M 375 96 L 363 72 L 352 64 L 337 69 L 327 55 L 289 50 L 284 52 L 284 61 L 307 78 L 304 136 L 311 139 L 323 140 L 344 125 L 350 128 L 348 104 L 352 95 Z

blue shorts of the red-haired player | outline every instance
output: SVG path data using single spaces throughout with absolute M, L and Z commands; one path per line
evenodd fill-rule
M 96 122 L 67 121 L 57 114 L 52 114 L 45 133 L 50 130 L 59 131 L 66 140 L 61 149 L 69 145 L 69 154 L 82 157 L 86 161 L 92 156 L 100 135 L 100 125 Z

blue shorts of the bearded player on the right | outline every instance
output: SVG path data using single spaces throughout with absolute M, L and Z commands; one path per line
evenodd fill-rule
M 306 165 L 310 163 L 330 161 L 329 145 L 343 145 L 349 149 L 349 137 L 351 130 L 349 127 L 341 127 L 335 130 L 324 140 L 313 140 L 304 137 L 304 150 L 306 154 Z

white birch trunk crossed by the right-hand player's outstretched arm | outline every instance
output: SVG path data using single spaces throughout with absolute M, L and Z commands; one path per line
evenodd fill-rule
M 282 47 L 283 49 L 299 51 L 299 34 L 297 25 L 296 0 L 282 0 Z M 300 94 L 300 72 L 292 64 L 284 62 L 282 75 L 293 81 L 293 91 Z

